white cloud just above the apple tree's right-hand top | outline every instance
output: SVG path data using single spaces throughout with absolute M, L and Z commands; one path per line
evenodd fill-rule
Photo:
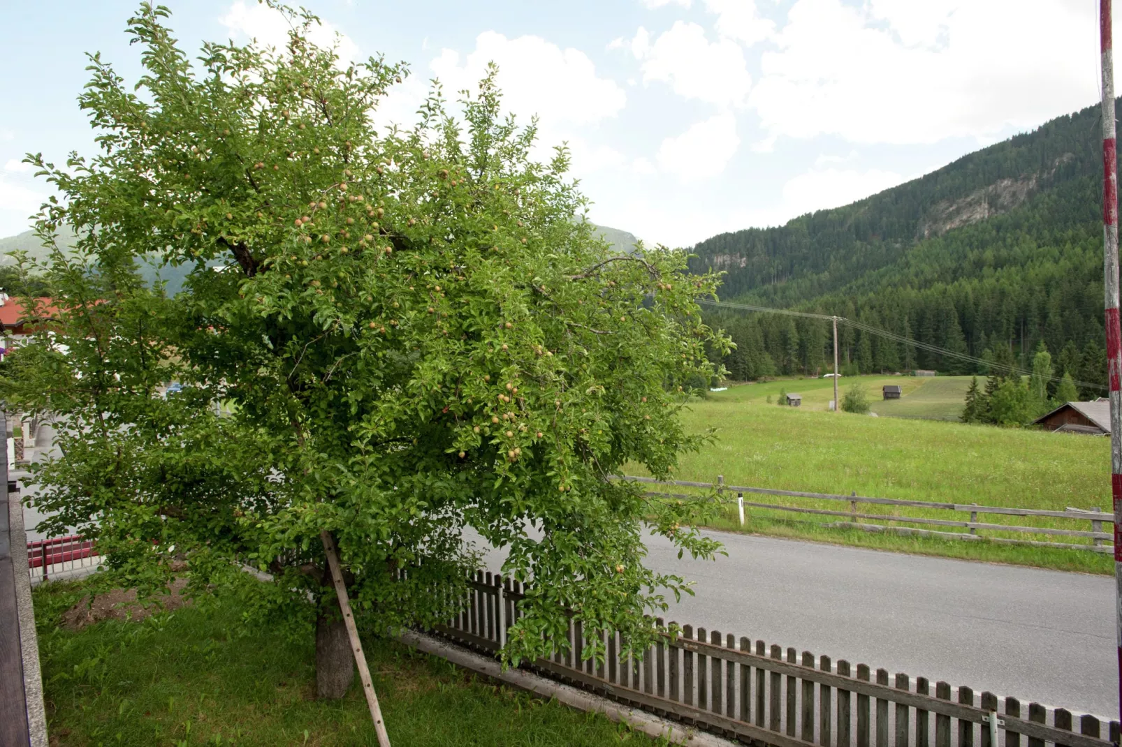
M 562 49 L 537 36 L 508 39 L 496 31 L 476 38 L 476 49 L 466 57 L 443 49 L 430 67 L 451 96 L 475 90 L 487 73 L 487 63 L 498 64 L 503 105 L 524 121 L 533 114 L 543 129 L 562 125 L 592 125 L 616 116 L 627 94 L 613 80 L 599 77 L 583 52 Z

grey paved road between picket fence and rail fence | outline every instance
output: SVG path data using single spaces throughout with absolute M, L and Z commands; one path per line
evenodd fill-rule
M 668 619 L 1118 719 L 1110 578 L 712 534 L 727 557 L 651 541 L 652 568 L 696 581 Z

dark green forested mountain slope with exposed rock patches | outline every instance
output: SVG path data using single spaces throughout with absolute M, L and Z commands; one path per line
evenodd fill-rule
M 693 247 L 724 299 L 856 319 L 921 342 L 1104 381 L 1098 108 L 1060 117 L 898 187 Z M 736 378 L 827 370 L 826 324 L 717 313 Z M 853 371 L 984 372 L 842 330 Z M 1084 394 L 1092 394 L 1091 390 Z

